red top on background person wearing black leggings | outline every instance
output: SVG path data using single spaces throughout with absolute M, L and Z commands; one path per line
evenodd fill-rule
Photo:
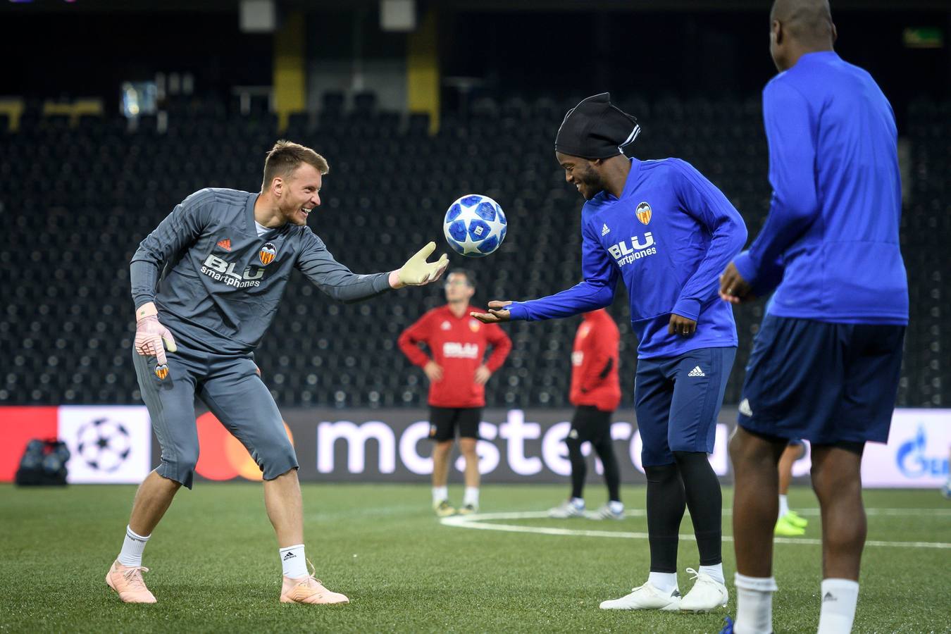
M 617 409 L 621 402 L 621 383 L 617 378 L 620 340 L 617 324 L 608 311 L 602 308 L 584 314 L 572 352 L 573 405 L 593 405 L 602 412 Z

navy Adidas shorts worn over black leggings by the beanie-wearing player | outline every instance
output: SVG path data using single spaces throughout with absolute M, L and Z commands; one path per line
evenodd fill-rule
M 641 464 L 673 463 L 672 451 L 713 451 L 736 348 L 699 348 L 680 356 L 638 359 L 634 383 Z

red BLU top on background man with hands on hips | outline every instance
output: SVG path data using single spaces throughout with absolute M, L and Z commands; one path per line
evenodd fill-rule
M 436 407 L 469 408 L 485 405 L 485 386 L 476 385 L 476 368 L 482 365 L 486 348 L 492 344 L 492 355 L 485 362 L 493 373 L 512 350 L 512 340 L 497 324 L 486 324 L 469 317 L 484 313 L 481 308 L 466 307 L 456 317 L 449 305 L 439 306 L 419 317 L 416 323 L 399 336 L 399 349 L 420 368 L 430 360 L 442 367 L 442 380 L 429 386 L 429 404 Z M 433 355 L 430 359 L 417 344 L 425 343 Z

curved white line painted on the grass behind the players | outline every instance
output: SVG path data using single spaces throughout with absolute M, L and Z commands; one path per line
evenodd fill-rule
M 629 513 L 642 515 L 644 512 Z M 922 509 L 924 510 L 924 509 Z M 626 511 L 627 512 L 627 511 Z M 440 524 L 455 528 L 475 528 L 476 530 L 502 530 L 505 532 L 531 532 L 540 535 L 561 535 L 576 537 L 610 537 L 614 539 L 648 539 L 646 532 L 628 532 L 624 530 L 582 530 L 575 528 L 553 528 L 553 527 L 526 527 L 515 524 L 494 524 L 494 520 L 528 520 L 528 519 L 547 519 L 547 510 L 527 510 L 505 513 L 477 513 L 474 515 L 455 515 L 453 517 L 444 517 L 439 520 Z M 608 521 L 608 520 L 605 520 Z M 693 535 L 680 535 L 682 539 L 692 539 Z M 732 542 L 733 538 L 725 535 L 725 542 Z M 775 544 L 800 544 L 806 546 L 822 546 L 822 540 L 810 537 L 776 537 L 773 539 Z M 885 542 L 880 540 L 869 540 L 865 546 L 894 547 L 894 548 L 951 548 L 951 544 L 944 542 Z

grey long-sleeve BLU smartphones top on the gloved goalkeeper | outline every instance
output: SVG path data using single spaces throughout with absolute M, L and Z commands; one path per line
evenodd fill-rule
M 388 273 L 352 273 L 309 227 L 285 224 L 259 237 L 257 200 L 258 194 L 234 189 L 199 190 L 176 205 L 132 256 L 135 306 L 154 301 L 179 345 L 252 352 L 294 267 L 344 302 L 390 289 Z

